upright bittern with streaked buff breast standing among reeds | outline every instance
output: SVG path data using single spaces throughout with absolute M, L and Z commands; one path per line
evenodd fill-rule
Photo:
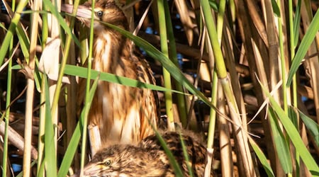
M 71 13 L 72 8 L 65 4 L 62 11 Z M 77 18 L 89 28 L 92 8 L 88 1 L 77 9 Z M 97 0 L 93 11 L 92 69 L 155 84 L 150 66 L 145 59 L 137 57 L 131 40 L 101 23 L 128 30 L 128 21 L 121 8 L 113 0 Z M 84 93 L 84 87 L 85 81 L 80 82 L 80 94 Z M 99 126 L 102 147 L 115 143 L 136 144 L 152 135 L 150 124 L 157 127 L 157 100 L 155 91 L 150 89 L 99 81 L 89 111 L 89 124 Z

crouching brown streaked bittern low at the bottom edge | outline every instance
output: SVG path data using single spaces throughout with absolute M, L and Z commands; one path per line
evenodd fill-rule
M 206 147 L 189 135 L 167 132 L 162 135 L 172 151 L 184 176 L 203 176 L 206 162 Z M 186 161 L 181 146 L 186 147 L 189 161 Z M 138 145 L 114 144 L 97 152 L 84 166 L 84 176 L 175 176 L 167 154 L 156 135 L 150 135 Z M 213 172 L 211 173 L 213 174 Z M 74 175 L 78 176 L 78 174 Z

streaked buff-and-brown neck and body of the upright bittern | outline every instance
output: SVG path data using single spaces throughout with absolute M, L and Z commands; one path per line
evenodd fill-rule
M 99 38 L 94 40 L 94 51 L 98 52 L 94 52 L 92 68 L 154 84 L 150 74 L 144 78 L 138 75 L 144 75 L 148 71 L 145 67 L 140 67 L 143 61 L 139 61 L 131 53 L 130 40 L 120 39 L 121 37 L 115 36 L 114 33 L 116 32 L 100 34 Z M 99 126 L 102 144 L 137 143 L 152 134 L 149 121 L 157 126 L 154 97 L 153 91 L 148 89 L 99 81 L 89 112 L 89 121 Z

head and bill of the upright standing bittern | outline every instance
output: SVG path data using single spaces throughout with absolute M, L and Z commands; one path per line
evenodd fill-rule
M 103 23 L 111 23 L 125 30 L 128 29 L 128 21 L 123 11 L 113 0 L 96 0 L 94 8 L 91 1 L 86 1 L 86 3 L 78 6 L 77 18 L 88 28 L 90 28 L 92 9 L 94 11 L 94 30 L 96 32 L 107 29 Z M 62 4 L 61 10 L 72 13 L 73 5 Z

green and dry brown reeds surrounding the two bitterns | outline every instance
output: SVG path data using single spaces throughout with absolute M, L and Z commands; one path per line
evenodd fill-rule
M 77 114 L 77 76 L 137 86 L 79 67 L 89 35 L 61 3 L 83 2 L 1 1 L 2 176 L 67 176 L 84 164 L 89 103 Z M 118 4 L 167 127 L 201 132 L 218 176 L 319 176 L 318 1 Z

